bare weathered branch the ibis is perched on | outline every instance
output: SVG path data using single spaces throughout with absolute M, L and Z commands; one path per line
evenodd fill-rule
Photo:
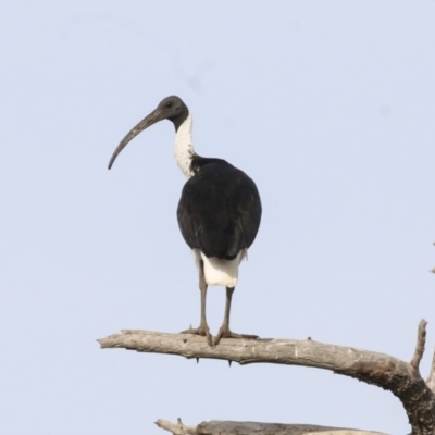
M 410 363 L 388 355 L 351 347 L 290 339 L 222 339 L 210 347 L 203 337 L 149 331 L 122 331 L 99 339 L 101 348 L 124 348 L 139 352 L 171 353 L 186 358 L 213 358 L 241 365 L 273 363 L 330 370 L 391 391 L 402 402 L 412 435 L 435 434 L 435 359 L 427 383 L 419 364 L 425 346 L 426 322 L 421 321 L 415 351 Z

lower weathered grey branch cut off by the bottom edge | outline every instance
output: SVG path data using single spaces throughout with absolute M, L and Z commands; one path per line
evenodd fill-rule
M 174 435 L 385 435 L 381 432 L 318 426 L 312 424 L 281 424 L 213 420 L 202 422 L 198 426 L 186 426 L 183 424 L 181 419 L 178 419 L 176 424 L 165 420 L 158 420 L 156 424 Z

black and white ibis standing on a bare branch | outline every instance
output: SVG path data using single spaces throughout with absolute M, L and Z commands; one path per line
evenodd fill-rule
M 175 158 L 188 177 L 179 199 L 177 217 L 186 244 L 194 250 L 199 270 L 201 321 L 197 328 L 183 331 L 206 336 L 210 346 L 221 338 L 258 338 L 229 330 L 232 296 L 238 279 L 238 266 L 253 243 L 261 221 L 261 200 L 253 181 L 222 159 L 198 156 L 191 139 L 191 114 L 178 97 L 167 97 L 139 122 L 121 141 L 109 162 L 140 132 L 159 121 L 175 126 Z M 208 286 L 226 287 L 225 315 L 214 340 L 206 319 Z

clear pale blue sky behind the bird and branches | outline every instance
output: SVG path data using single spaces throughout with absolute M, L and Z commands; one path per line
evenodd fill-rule
M 409 361 L 435 344 L 435 1 L 12 1 L 0 12 L 0 433 L 163 433 L 158 418 L 405 434 L 390 393 L 331 372 L 100 350 L 199 323 L 162 122 L 257 183 L 234 331 Z M 209 291 L 215 334 L 224 290 Z

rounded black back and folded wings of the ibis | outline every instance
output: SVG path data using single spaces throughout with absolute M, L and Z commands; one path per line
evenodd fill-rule
M 234 259 L 257 236 L 260 195 L 240 170 L 224 160 L 202 159 L 198 173 L 183 188 L 177 217 L 190 248 L 207 257 Z

